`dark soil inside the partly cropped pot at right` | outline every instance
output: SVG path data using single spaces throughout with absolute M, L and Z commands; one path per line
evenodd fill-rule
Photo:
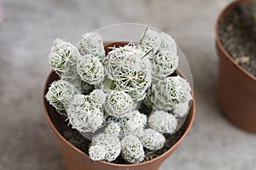
M 236 63 L 256 77 L 256 20 L 252 10 L 251 3 L 230 10 L 219 22 L 218 36 Z

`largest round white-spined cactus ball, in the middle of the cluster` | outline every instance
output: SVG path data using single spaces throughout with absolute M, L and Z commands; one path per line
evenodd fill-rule
M 134 44 L 113 48 L 103 61 L 112 89 L 123 90 L 133 100 L 142 100 L 150 86 L 148 59 Z M 109 80 L 107 82 L 109 84 Z M 106 85 L 104 85 L 106 87 Z

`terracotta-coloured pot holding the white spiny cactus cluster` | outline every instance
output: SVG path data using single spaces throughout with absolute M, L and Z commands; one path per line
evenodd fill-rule
M 113 43 L 105 42 L 104 44 L 109 45 Z M 119 42 L 119 43 L 115 42 L 116 47 L 123 44 L 124 42 Z M 108 169 L 108 170 L 125 170 L 125 169 L 157 170 L 159 169 L 162 162 L 172 155 L 174 150 L 176 150 L 177 146 L 181 143 L 181 141 L 187 135 L 190 127 L 192 126 L 192 122 L 194 121 L 194 118 L 195 118 L 195 97 L 194 97 L 194 94 L 192 93 L 193 103 L 189 111 L 189 116 L 187 117 L 186 121 L 183 124 L 186 127 L 186 130 L 183 133 L 183 136 L 180 139 L 178 139 L 177 143 L 174 144 L 172 148 L 167 150 L 164 154 L 162 154 L 161 156 L 158 156 L 157 158 L 154 158 L 151 161 L 145 161 L 137 164 L 115 164 L 115 163 L 109 163 L 106 161 L 92 161 L 89 159 L 89 156 L 86 155 L 83 151 L 77 149 L 76 147 L 73 146 L 73 144 L 70 144 L 67 141 L 67 139 L 63 138 L 61 136 L 61 133 L 59 133 L 56 128 L 56 122 L 58 121 L 56 120 L 57 113 L 55 111 L 55 108 L 52 105 L 49 105 L 49 103 L 46 101 L 44 96 L 47 93 L 51 82 L 54 82 L 57 79 L 58 79 L 58 76 L 55 74 L 54 71 L 51 71 L 44 84 L 43 105 L 44 105 L 44 113 L 47 117 L 49 125 L 52 128 L 53 132 L 55 133 L 56 139 L 61 144 L 61 149 L 63 152 L 64 160 L 66 162 L 67 170 L 85 170 L 85 169 L 86 170 L 105 170 L 105 169 Z

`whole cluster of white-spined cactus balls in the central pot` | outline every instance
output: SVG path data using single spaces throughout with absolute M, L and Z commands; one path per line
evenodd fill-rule
M 192 100 L 189 82 L 170 75 L 178 65 L 172 37 L 148 28 L 142 39 L 105 53 L 102 38 L 85 33 L 79 48 L 56 39 L 49 65 L 60 76 L 45 98 L 69 126 L 95 133 L 89 147 L 93 161 L 128 163 L 144 160 L 147 150 L 160 150 L 163 134 L 176 133 Z M 144 103 L 153 112 L 138 111 Z

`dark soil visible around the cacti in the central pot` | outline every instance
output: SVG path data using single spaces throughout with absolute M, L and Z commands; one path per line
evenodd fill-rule
M 49 105 L 49 107 L 52 107 L 52 106 Z M 145 105 L 142 105 L 139 110 L 145 113 L 146 115 L 148 115 L 148 113 L 151 112 Z M 55 120 L 54 122 L 55 127 L 61 133 L 61 135 L 65 139 L 67 139 L 68 142 L 73 144 L 73 146 L 75 146 L 79 150 L 82 150 L 85 154 L 88 155 L 90 140 L 84 138 L 84 136 L 80 134 L 76 129 L 73 129 L 71 126 L 68 126 L 68 122 L 66 121 L 67 117 L 61 116 L 60 114 L 58 114 L 53 107 L 51 111 L 54 112 L 52 113 L 53 115 L 51 116 L 54 116 L 53 118 Z M 183 123 L 183 126 L 179 128 L 177 133 L 172 135 L 165 134 L 166 143 L 164 148 L 161 150 L 151 151 L 151 150 L 144 149 L 145 151 L 144 161 L 152 160 L 155 157 L 160 156 L 163 153 L 165 153 L 167 150 L 169 150 L 172 147 L 172 145 L 175 144 L 177 140 L 182 137 L 185 130 L 186 130 L 186 123 Z M 119 156 L 115 161 L 113 161 L 113 163 L 127 164 L 125 160 L 123 160 L 122 156 Z

